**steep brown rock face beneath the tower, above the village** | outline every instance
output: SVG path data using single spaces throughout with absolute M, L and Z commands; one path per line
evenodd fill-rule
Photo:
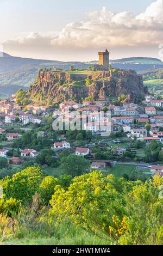
M 91 81 L 90 86 L 85 86 L 86 77 Z M 92 74 L 40 71 L 29 89 L 30 97 L 35 101 L 49 100 L 54 103 L 69 99 L 79 101 L 87 96 L 95 100 L 106 99 L 122 94 L 127 95 L 128 101 L 135 101 L 147 92 L 147 87 L 143 86 L 142 76 L 137 75 L 134 70 L 102 71 Z

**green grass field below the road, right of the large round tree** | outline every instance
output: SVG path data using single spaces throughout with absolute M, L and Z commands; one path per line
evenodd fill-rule
M 117 178 L 121 178 L 123 174 L 130 176 L 133 172 L 135 172 L 135 169 L 135 165 L 117 163 L 110 169 L 109 174 L 114 174 Z

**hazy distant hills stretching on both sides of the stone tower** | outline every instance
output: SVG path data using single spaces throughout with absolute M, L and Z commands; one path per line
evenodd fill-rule
M 74 68 L 87 68 L 96 63 L 98 62 L 60 62 L 57 60 L 21 58 L 0 52 L 0 94 L 2 90 L 10 95 L 16 92 L 17 88 L 29 87 L 41 68 L 68 70 L 71 65 Z M 113 68 L 134 69 L 137 72 L 153 69 L 154 65 L 155 68 L 163 68 L 163 63 L 160 59 L 144 57 L 110 60 L 110 64 Z

